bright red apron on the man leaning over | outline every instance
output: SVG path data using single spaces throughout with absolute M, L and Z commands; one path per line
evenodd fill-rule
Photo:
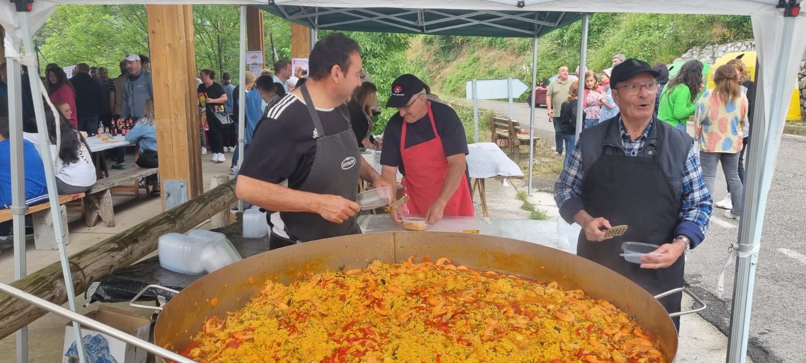
M 405 165 L 405 177 L 401 183 L 404 186 L 404 193 L 409 195 L 409 202 L 406 207 L 409 214 L 426 215 L 428 208 L 439 197 L 442 190 L 442 182 L 448 173 L 448 159 L 442 149 L 442 139 L 439 138 L 437 127 L 434 124 L 434 114 L 431 112 L 430 102 L 428 104 L 428 119 L 431 128 L 434 129 L 434 139 L 422 144 L 405 148 L 405 131 L 408 123 L 403 121 L 403 131 L 401 132 L 401 159 Z M 453 196 L 445 206 L 442 215 L 473 216 L 473 199 L 470 196 L 470 188 L 467 186 L 467 177 L 462 175 L 459 187 L 456 188 Z

